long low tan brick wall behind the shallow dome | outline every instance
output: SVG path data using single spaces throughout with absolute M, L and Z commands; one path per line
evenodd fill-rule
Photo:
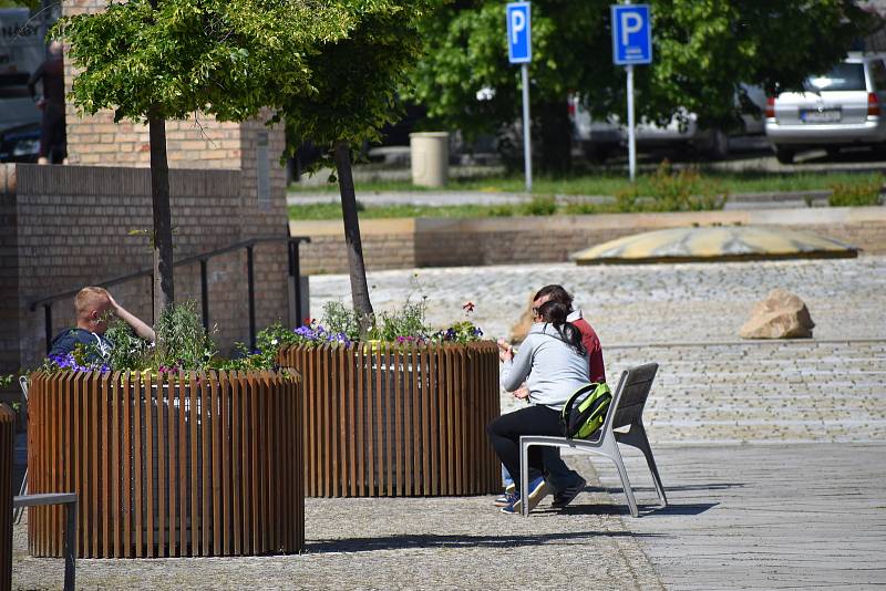
M 360 222 L 369 270 L 560 262 L 570 253 L 622 236 L 692 225 L 786 226 L 886 253 L 886 208 L 815 208 L 689 214 L 490 219 L 398 219 Z M 310 236 L 301 247 L 305 274 L 348 271 L 340 221 L 291 221 Z

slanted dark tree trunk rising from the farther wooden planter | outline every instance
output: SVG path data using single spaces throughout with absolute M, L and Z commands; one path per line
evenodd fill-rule
M 372 302 L 369 301 L 367 268 L 363 265 L 363 245 L 360 240 L 360 221 L 357 218 L 357 195 L 351 174 L 351 148 L 347 142 L 336 142 L 336 169 L 341 193 L 341 216 L 344 221 L 344 243 L 348 248 L 348 267 L 351 273 L 351 299 L 360 318 L 360 335 L 365 338 L 372 325 Z

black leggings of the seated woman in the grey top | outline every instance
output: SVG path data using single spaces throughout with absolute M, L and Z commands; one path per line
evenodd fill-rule
M 521 435 L 563 436 L 560 412 L 549 406 L 534 405 L 507 413 L 486 427 L 492 446 L 502 464 L 515 483 L 519 483 L 519 437 Z M 529 468 L 542 470 L 540 446 L 529 448 Z

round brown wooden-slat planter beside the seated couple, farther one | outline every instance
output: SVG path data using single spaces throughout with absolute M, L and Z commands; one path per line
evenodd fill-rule
M 309 496 L 482 495 L 501 488 L 485 427 L 498 416 L 493 342 L 295 346 L 305 381 Z

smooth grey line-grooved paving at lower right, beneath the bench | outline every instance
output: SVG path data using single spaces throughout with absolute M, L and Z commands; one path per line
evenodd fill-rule
M 658 446 L 670 502 L 626 460 L 641 518 L 624 522 L 666 589 L 883 589 L 886 443 Z M 615 469 L 598 479 L 625 504 Z M 584 502 L 579 496 L 579 502 Z

